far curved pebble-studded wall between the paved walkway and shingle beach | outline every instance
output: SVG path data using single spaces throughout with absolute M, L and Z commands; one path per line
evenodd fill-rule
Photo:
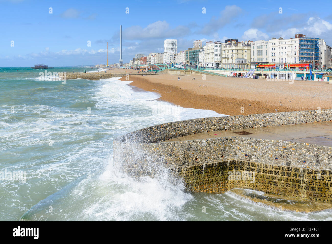
M 332 109 L 201 118 L 154 125 L 125 134 L 119 137 L 118 140 L 145 143 L 160 142 L 181 135 L 191 135 L 195 132 L 303 124 L 331 120 Z

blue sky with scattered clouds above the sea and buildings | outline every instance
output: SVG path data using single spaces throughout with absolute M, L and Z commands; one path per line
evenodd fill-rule
M 163 40 L 168 38 L 178 39 L 178 51 L 192 47 L 196 39 L 268 40 L 295 33 L 324 38 L 332 46 L 332 2 L 317 7 L 312 3 L 0 0 L 0 67 L 106 64 L 106 42 L 109 63 L 118 63 L 120 24 L 124 63 L 135 53 L 163 52 Z

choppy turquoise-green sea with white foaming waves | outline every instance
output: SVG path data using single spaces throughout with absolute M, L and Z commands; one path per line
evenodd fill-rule
M 83 72 L 56 68 L 48 72 Z M 170 121 L 222 116 L 176 107 L 130 81 L 40 80 L 41 70 L 0 68 L 0 220 L 332 220 L 287 213 L 232 193 L 197 194 L 181 181 L 121 173 L 113 139 Z M 206 212 L 202 209 L 206 208 Z

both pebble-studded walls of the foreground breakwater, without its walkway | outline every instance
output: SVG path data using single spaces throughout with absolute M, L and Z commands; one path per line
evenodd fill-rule
M 164 169 L 187 189 L 225 192 L 233 188 L 332 202 L 332 148 L 307 143 L 221 137 L 188 141 L 170 138 L 195 133 L 332 120 L 332 110 L 201 118 L 155 125 L 114 141 L 114 162 L 132 176 L 156 176 Z M 251 172 L 254 180 L 234 178 Z

